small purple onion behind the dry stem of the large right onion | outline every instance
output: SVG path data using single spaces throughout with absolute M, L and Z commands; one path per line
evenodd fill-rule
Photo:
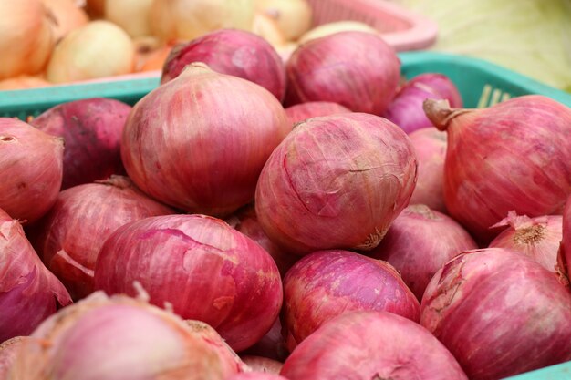
M 453 108 L 462 108 L 462 97 L 449 77 L 426 73 L 413 77 L 400 87 L 383 116 L 410 133 L 420 128 L 432 127 L 422 103 L 427 98 L 447 99 Z

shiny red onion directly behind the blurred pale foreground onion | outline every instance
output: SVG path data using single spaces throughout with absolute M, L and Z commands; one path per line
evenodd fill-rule
M 95 286 L 132 294 L 134 281 L 151 303 L 170 303 L 182 318 L 210 324 L 236 352 L 264 336 L 283 299 L 271 256 L 203 215 L 152 217 L 115 231 L 99 252 Z

